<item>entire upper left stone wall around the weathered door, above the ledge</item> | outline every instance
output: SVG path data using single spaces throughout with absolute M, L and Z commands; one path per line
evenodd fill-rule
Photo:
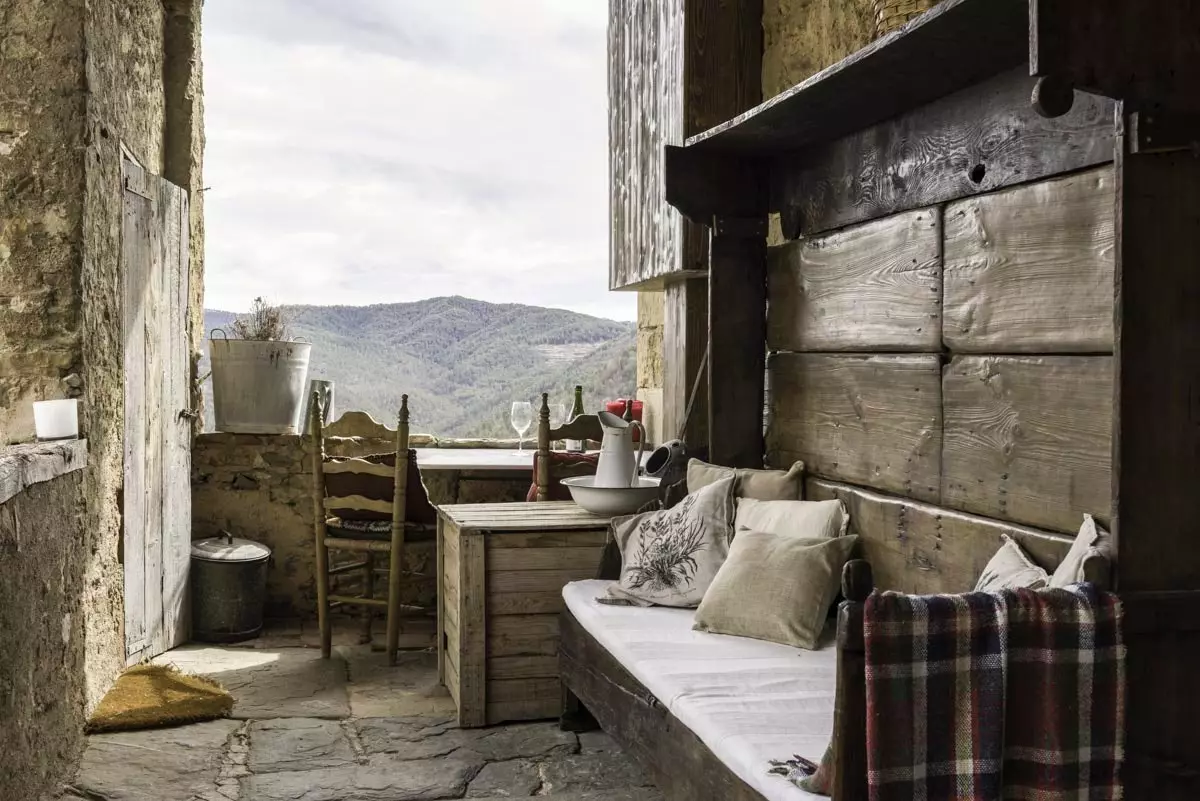
M 199 194 L 200 5 L 0 0 L 0 441 L 32 436 L 32 401 L 82 399 L 92 704 L 125 663 L 122 147 Z M 193 349 L 200 207 L 192 204 Z

